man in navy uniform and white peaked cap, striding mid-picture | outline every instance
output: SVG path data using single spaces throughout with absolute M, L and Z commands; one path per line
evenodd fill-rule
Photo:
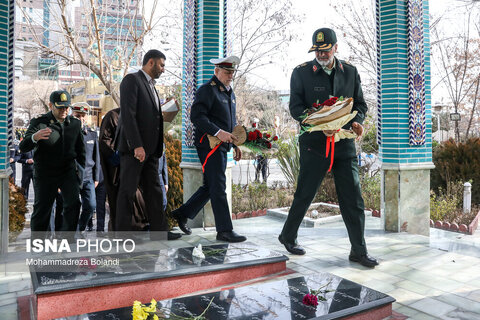
M 181 207 L 172 212 L 180 229 L 186 234 L 192 233 L 187 226 L 187 219 L 193 219 L 207 204 L 212 203 L 217 240 L 242 242 L 247 238 L 233 231 L 230 210 L 228 208 L 225 169 L 227 167 L 227 152 L 236 139 L 232 135 L 236 124 L 235 94 L 231 83 L 236 66 L 240 59 L 230 56 L 210 60 L 215 65 L 215 75 L 195 94 L 190 119 L 195 125 L 195 147 L 198 158 L 204 165 L 203 185 Z M 216 136 L 222 141 L 220 147 L 206 160 L 210 153 L 207 134 Z M 236 161 L 241 158 L 241 151 L 235 147 Z

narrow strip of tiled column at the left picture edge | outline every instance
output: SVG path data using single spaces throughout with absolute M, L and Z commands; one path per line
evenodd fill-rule
M 15 1 L 0 2 L 0 253 L 8 248 L 8 177 L 13 134 Z

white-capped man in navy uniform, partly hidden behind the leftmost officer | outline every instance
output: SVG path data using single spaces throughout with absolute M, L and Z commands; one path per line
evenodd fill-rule
M 72 111 L 73 116 L 82 122 L 82 134 L 85 141 L 85 172 L 80 189 L 82 211 L 78 219 L 78 229 L 84 231 L 97 207 L 95 188 L 100 181 L 100 153 L 97 132 L 86 123 L 90 106 L 86 102 L 77 102 L 72 105 Z M 92 228 L 89 227 L 88 231 L 92 231 Z

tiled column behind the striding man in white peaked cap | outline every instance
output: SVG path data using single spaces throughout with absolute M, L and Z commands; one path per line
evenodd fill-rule
M 195 91 L 212 75 L 214 66 L 209 62 L 227 55 L 227 0 L 185 0 L 183 32 L 183 87 L 182 87 L 182 163 L 183 200 L 202 185 L 202 166 L 193 145 L 194 127 L 190 121 Z M 231 166 L 229 154 L 227 165 L 227 198 L 231 209 Z M 189 221 L 192 227 L 214 226 L 210 202 L 196 219 Z

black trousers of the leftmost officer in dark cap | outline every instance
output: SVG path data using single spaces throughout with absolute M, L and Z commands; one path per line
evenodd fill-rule
M 31 218 L 32 231 L 47 231 L 52 206 L 58 189 L 63 197 L 63 221 L 60 231 L 75 231 L 80 214 L 80 199 L 77 174 L 75 168 L 66 170 L 60 175 L 46 175 L 42 172 L 33 179 L 35 201 Z

